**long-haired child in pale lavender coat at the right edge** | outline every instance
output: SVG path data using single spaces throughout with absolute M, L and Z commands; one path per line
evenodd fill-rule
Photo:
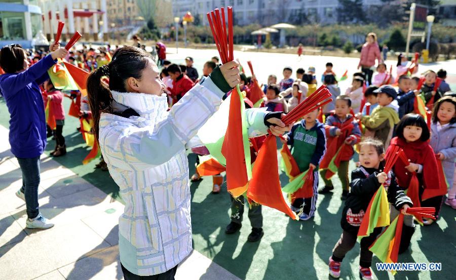
M 456 188 L 453 187 L 456 159 L 456 97 L 444 96 L 434 105 L 429 144 L 434 149 L 437 159 L 442 161 L 445 183 L 450 187 L 445 204 L 456 209 Z

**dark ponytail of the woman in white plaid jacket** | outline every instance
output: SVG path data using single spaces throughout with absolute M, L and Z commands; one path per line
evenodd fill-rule
M 98 142 L 99 121 L 101 112 L 110 108 L 112 96 L 107 85 L 101 82 L 103 76 L 108 76 L 108 65 L 103 65 L 87 78 L 87 97 L 93 118 L 93 134 Z

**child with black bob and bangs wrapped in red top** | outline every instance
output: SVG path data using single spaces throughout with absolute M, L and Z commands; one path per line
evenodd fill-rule
M 439 188 L 439 176 L 435 154 L 428 142 L 430 133 L 424 118 L 419 114 L 406 114 L 397 125 L 396 135 L 388 147 L 387 160 L 394 146 L 402 148 L 409 159 L 408 165 L 397 161 L 393 166 L 398 183 L 407 188 L 407 195 L 415 207 L 435 207 L 437 218 L 443 196 L 434 195 Z M 425 225 L 433 222 L 432 219 L 423 220 Z M 411 234 L 407 238 L 410 240 Z

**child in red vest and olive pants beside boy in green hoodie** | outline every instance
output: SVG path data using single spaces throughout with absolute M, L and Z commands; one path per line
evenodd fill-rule
M 330 170 L 330 162 L 335 157 L 334 165 L 337 166 L 337 175 L 342 183 L 342 199 L 346 199 L 349 193 L 348 168 L 350 158 L 354 154 L 353 145 L 361 137 L 358 122 L 349 113 L 351 105 L 352 101 L 347 95 L 337 96 L 335 113 L 326 118 L 327 153 L 321 164 L 321 177 L 325 182 L 325 186 L 318 191 L 319 193 L 328 193 L 334 189 L 330 178 L 335 171 Z

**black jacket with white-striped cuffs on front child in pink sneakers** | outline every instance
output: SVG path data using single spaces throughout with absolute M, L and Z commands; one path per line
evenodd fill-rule
M 352 171 L 352 181 L 350 182 L 350 193 L 345 202 L 344 210 L 342 211 L 342 219 L 340 225 L 344 230 L 351 232 L 358 232 L 359 227 L 353 226 L 347 222 L 347 211 L 352 209 L 352 213 L 357 214 L 361 210 L 366 212 L 369 206 L 370 199 L 375 194 L 375 191 L 382 185 L 377 180 L 377 175 L 380 173 L 379 169 L 364 168 L 364 170 L 370 175 L 366 178 L 366 175 L 359 167 Z M 383 170 L 383 166 L 380 167 Z M 405 195 L 404 190 L 398 186 L 396 182 L 396 176 L 393 172 L 391 174 L 391 182 L 388 187 L 388 202 L 394 205 L 397 210 L 400 210 L 404 204 L 408 204 L 410 207 L 413 206 L 411 199 Z

